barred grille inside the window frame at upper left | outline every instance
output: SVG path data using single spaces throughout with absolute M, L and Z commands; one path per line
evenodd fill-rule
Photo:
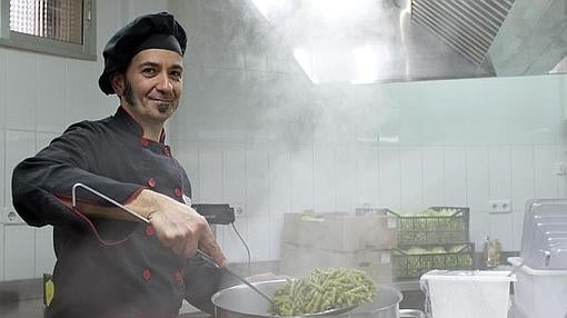
M 10 31 L 82 44 L 82 0 L 10 0 Z

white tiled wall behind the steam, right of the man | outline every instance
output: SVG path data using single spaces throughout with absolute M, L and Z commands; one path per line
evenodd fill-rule
M 249 2 L 169 1 L 192 43 L 169 141 L 197 202 L 243 207 L 253 259 L 278 259 L 282 213 L 365 202 L 468 206 L 477 245 L 518 250 L 525 200 L 565 197 L 564 76 L 314 86 Z M 219 240 L 246 259 L 230 227 Z

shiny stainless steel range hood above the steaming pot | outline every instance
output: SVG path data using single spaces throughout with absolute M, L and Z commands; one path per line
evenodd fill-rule
M 269 2 L 251 1 L 263 4 Z M 510 52 L 506 49 L 496 51 L 494 46 L 497 43 L 497 47 L 506 48 L 507 41 L 510 41 L 514 34 L 501 37 L 500 31 L 506 29 L 507 33 L 510 33 L 509 30 L 514 27 L 510 27 L 508 21 L 517 23 L 526 12 L 541 16 L 545 11 L 529 11 L 531 7 L 544 7 L 541 2 L 553 2 L 556 7 L 561 3 L 565 6 L 567 1 L 285 2 L 287 7 L 279 8 L 278 11 L 268 10 L 266 6 L 257 7 L 291 46 L 296 60 L 311 81 L 369 83 L 494 77 L 500 72 L 510 74 L 513 71 L 501 63 L 504 60 L 509 61 Z M 317 7 L 317 3 L 320 7 Z M 518 3 L 520 9 L 515 10 Z M 342 7 L 337 7 L 339 4 Z M 335 12 L 335 16 L 329 18 L 325 16 L 326 12 Z M 510 16 L 514 17 L 510 19 Z M 561 16 L 554 18 L 560 20 Z M 559 62 L 560 58 L 554 57 L 553 66 Z M 495 59 L 499 62 L 496 67 Z

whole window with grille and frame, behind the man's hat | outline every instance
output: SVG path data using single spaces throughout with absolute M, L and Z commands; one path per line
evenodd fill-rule
M 96 60 L 96 0 L 0 0 L 0 44 Z

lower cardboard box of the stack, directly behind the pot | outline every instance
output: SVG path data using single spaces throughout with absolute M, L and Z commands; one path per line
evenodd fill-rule
M 328 267 L 358 268 L 375 282 L 392 281 L 392 259 L 389 250 L 332 251 L 294 244 L 281 245 L 280 274 L 301 277 L 315 268 Z

